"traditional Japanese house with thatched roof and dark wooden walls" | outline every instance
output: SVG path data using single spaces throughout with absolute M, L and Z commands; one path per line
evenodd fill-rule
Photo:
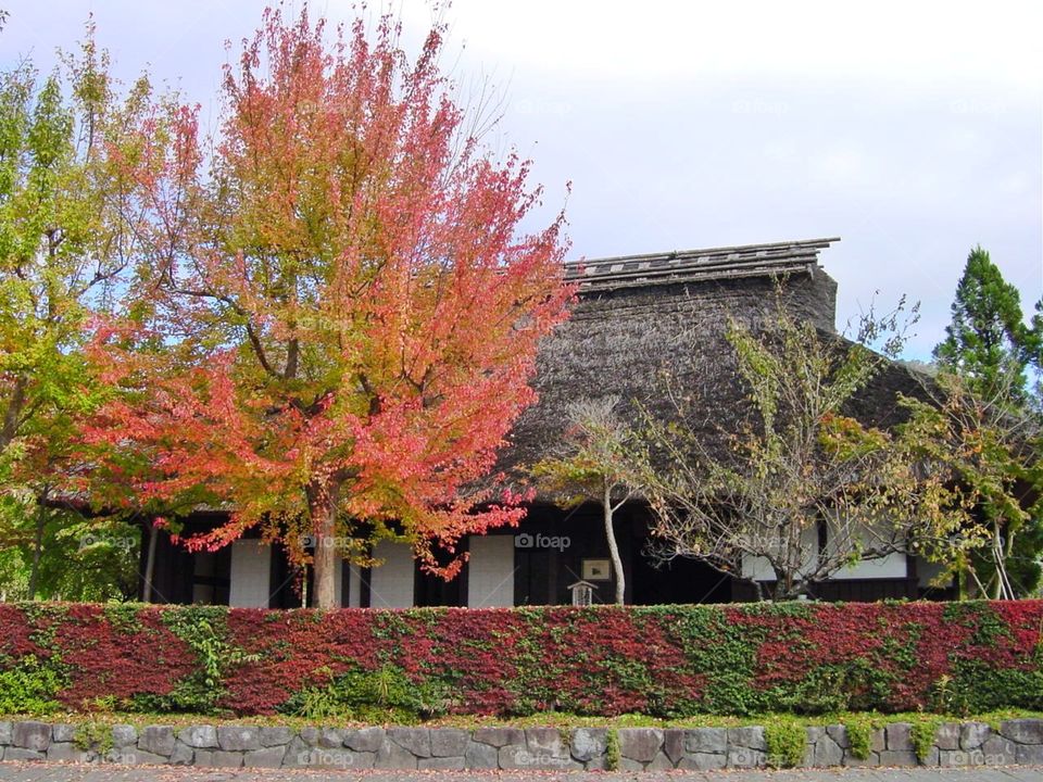
M 837 283 L 819 253 L 837 239 L 600 258 L 570 264 L 578 282 L 571 318 L 541 345 L 535 379 L 539 402 L 527 411 L 502 456 L 520 472 L 561 442 L 570 402 L 613 395 L 662 415 L 676 415 L 664 383 L 698 399 L 688 424 L 718 437 L 734 431 L 749 403 L 726 339 L 730 320 L 753 330 L 770 324 L 780 302 L 795 317 L 835 333 Z M 870 424 L 895 414 L 897 391 L 914 393 L 917 380 L 892 366 L 860 394 L 854 413 Z M 655 569 L 642 555 L 648 515 L 636 505 L 618 516 L 628 600 L 634 603 L 747 598 L 738 582 L 691 562 Z M 345 564 L 343 605 L 497 606 L 566 603 L 568 585 L 601 582 L 594 595 L 611 595 L 606 543 L 596 508 L 564 509 L 537 503 L 520 529 L 472 537 L 470 562 L 445 583 L 420 573 L 406 546 L 382 542 L 385 565 L 372 570 Z M 237 541 L 222 552 L 190 555 L 166 546 L 156 559 L 156 593 L 174 602 L 290 606 L 285 559 L 259 541 Z M 610 577 L 611 579 L 611 573 Z M 599 579 L 601 581 L 599 581 Z M 884 567 L 852 569 L 824 597 L 846 600 L 919 594 L 915 563 L 895 556 Z

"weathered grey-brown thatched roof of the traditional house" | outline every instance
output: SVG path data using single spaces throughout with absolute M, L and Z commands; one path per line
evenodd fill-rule
M 691 404 L 688 427 L 716 443 L 749 413 L 726 339 L 730 320 L 757 331 L 775 320 L 780 299 L 795 317 L 835 333 L 837 283 L 818 255 L 838 239 L 751 244 L 633 255 L 570 264 L 579 281 L 571 318 L 541 345 L 533 386 L 540 401 L 515 426 L 501 467 L 532 465 L 562 440 L 568 405 L 618 396 L 677 416 L 669 393 Z M 893 422 L 897 391 L 915 393 L 916 378 L 888 367 L 857 400 L 868 424 Z

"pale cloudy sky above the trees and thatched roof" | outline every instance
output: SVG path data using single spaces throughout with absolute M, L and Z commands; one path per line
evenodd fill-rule
M 225 40 L 264 5 L 0 0 L 0 66 L 28 54 L 49 70 L 92 11 L 117 74 L 148 67 L 205 121 Z M 838 326 L 877 290 L 883 304 L 906 293 L 922 305 L 907 352 L 925 357 L 976 243 L 1027 312 L 1043 291 L 1038 7 L 456 0 L 447 66 L 503 90 L 491 141 L 535 161 L 543 222 L 573 182 L 573 257 L 840 236 L 821 256 Z M 394 8 L 418 43 L 429 7 Z

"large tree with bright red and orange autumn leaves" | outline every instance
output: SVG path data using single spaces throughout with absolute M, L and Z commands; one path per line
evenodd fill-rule
M 519 519 L 489 474 L 571 295 L 562 217 L 519 230 L 527 163 L 464 130 L 444 31 L 411 61 L 390 16 L 327 46 L 306 10 L 266 11 L 218 136 L 192 110 L 158 119 L 140 300 L 96 342 L 124 392 L 88 438 L 106 463 L 144 500 L 234 508 L 191 545 L 259 527 L 302 563 L 315 540 L 319 607 L 368 541 L 449 577 L 462 558 L 439 567 L 436 544 Z

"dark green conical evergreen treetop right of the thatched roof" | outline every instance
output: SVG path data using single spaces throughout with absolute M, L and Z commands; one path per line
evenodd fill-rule
M 952 314 L 934 358 L 964 378 L 973 393 L 992 399 L 1003 390 L 1011 403 L 1022 403 L 1031 332 L 1018 289 L 1003 278 L 980 245 L 967 256 Z

